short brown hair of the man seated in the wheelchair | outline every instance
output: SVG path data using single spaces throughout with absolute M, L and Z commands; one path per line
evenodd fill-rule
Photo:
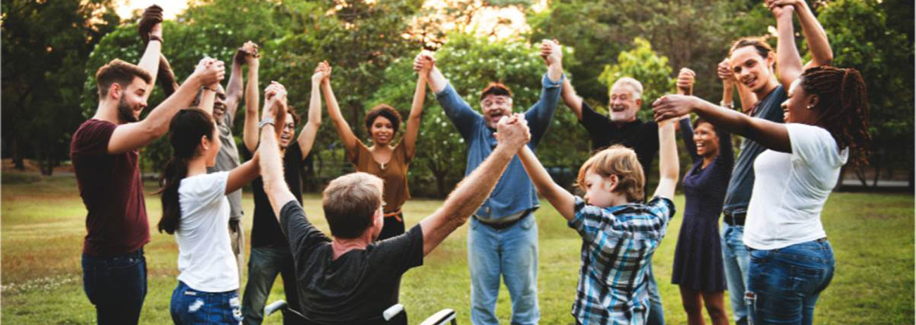
M 382 186 L 382 179 L 363 172 L 333 179 L 322 193 L 322 208 L 331 234 L 357 238 L 372 226 L 372 218 L 382 206 Z

